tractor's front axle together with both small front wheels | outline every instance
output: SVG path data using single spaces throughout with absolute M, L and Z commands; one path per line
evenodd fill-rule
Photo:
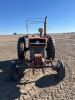
M 33 75 L 35 74 L 35 69 L 41 69 L 42 72 L 45 72 L 45 68 L 52 68 L 58 74 L 59 79 L 63 79 L 65 77 L 65 67 L 61 60 L 45 60 L 42 64 L 36 65 L 34 61 L 21 61 L 14 60 L 11 62 L 11 71 L 10 76 L 13 81 L 16 81 L 23 74 L 24 70 L 32 69 Z

